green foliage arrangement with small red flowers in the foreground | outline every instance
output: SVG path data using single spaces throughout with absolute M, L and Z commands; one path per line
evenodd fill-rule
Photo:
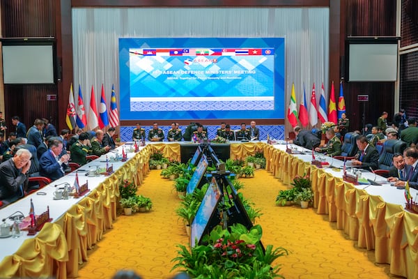
M 229 231 L 230 230 L 230 231 Z M 192 278 L 283 278 L 280 266 L 271 266 L 274 259 L 287 255 L 284 248 L 261 248 L 260 225 L 247 230 L 235 224 L 229 229 L 217 226 L 205 241 L 207 245 L 186 248 L 178 245 L 173 269 L 183 269 Z

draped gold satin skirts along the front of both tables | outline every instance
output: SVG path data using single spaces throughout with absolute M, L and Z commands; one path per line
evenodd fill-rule
M 150 154 L 157 150 L 180 160 L 180 144 L 148 144 L 59 220 L 45 224 L 36 237 L 5 257 L 0 262 L 0 278 L 77 277 L 79 264 L 88 260 L 87 250 L 102 239 L 116 219 L 118 185 L 123 179 L 141 184 L 149 172 Z M 368 195 L 272 145 L 231 144 L 233 159 L 256 151 L 263 151 L 267 171 L 287 185 L 297 174 L 310 174 L 318 214 L 328 214 L 330 222 L 336 222 L 337 229 L 343 229 L 360 248 L 374 250 L 376 262 L 390 264 L 391 273 L 418 278 L 417 214 Z

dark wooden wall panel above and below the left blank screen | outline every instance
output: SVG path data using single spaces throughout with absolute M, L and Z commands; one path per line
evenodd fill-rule
M 55 0 L 2 0 L 1 32 L 3 38 L 55 37 Z M 57 121 L 57 101 L 48 101 L 47 95 L 56 95 L 56 85 L 4 86 L 5 116 L 13 130 L 10 118 L 20 116 L 29 128 L 38 117 Z

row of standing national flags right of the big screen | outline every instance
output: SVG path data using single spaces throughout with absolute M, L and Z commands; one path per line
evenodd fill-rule
M 311 93 L 311 102 L 309 103 L 309 110 L 307 105 L 307 97 L 303 84 L 303 100 L 301 100 L 299 105 L 299 112 L 297 111 L 297 101 L 295 94 L 295 84 L 292 84 L 291 92 L 291 102 L 288 108 L 288 121 L 291 123 L 292 127 L 297 126 L 297 119 L 299 119 L 302 126 L 308 126 L 310 123 L 311 126 L 316 126 L 318 119 L 325 123 L 327 121 L 337 123 L 338 119 L 341 118 L 341 114 L 346 113 L 346 102 L 343 95 L 343 84 L 340 83 L 340 93 L 338 98 L 338 114 L 337 107 L 335 102 L 335 92 L 334 92 L 334 82 L 332 82 L 331 93 L 330 93 L 330 103 L 328 105 L 325 100 L 325 90 L 324 84 L 322 84 L 320 89 L 319 105 L 316 103 L 316 94 L 315 94 L 315 83 L 312 87 Z

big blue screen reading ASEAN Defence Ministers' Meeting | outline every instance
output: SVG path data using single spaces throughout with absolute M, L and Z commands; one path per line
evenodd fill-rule
M 283 119 L 284 38 L 120 38 L 121 120 Z

